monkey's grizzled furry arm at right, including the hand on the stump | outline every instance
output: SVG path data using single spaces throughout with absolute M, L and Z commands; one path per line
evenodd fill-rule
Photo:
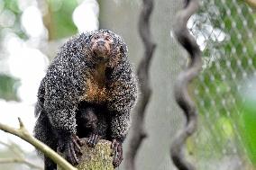
M 112 113 L 110 126 L 113 139 L 112 148 L 114 148 L 114 167 L 119 166 L 123 160 L 122 143 L 131 125 L 130 112 L 138 94 L 137 79 L 133 75 L 131 65 L 127 62 L 118 68 L 114 70 L 112 76 L 114 77 L 110 85 L 112 95 L 108 105 Z

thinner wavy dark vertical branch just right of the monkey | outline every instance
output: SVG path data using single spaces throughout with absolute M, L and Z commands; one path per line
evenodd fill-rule
M 127 170 L 135 169 L 135 157 L 142 144 L 142 140 L 147 134 L 144 130 L 145 110 L 151 98 L 151 86 L 149 77 L 149 68 L 151 58 L 156 47 L 151 38 L 150 17 L 153 9 L 152 0 L 143 0 L 142 12 L 139 19 L 139 32 L 144 45 L 144 55 L 137 69 L 139 83 L 141 85 L 141 95 L 133 116 L 132 137 L 128 142 L 129 150 L 126 153 L 125 168 Z

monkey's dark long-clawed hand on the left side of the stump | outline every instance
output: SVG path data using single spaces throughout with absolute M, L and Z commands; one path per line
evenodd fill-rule
M 75 134 L 59 139 L 59 151 L 63 153 L 63 157 L 73 166 L 78 165 L 78 156 L 82 155 L 80 147 L 83 145 L 83 142 Z

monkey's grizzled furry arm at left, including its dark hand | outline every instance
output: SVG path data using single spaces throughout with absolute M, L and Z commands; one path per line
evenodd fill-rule
M 44 109 L 58 138 L 58 148 L 72 164 L 78 164 L 79 140 L 76 138 L 77 92 L 66 76 L 53 70 L 47 77 Z

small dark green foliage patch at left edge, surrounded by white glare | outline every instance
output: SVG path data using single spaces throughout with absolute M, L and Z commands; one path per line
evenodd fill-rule
M 18 101 L 18 97 L 16 95 L 18 85 L 18 80 L 13 77 L 0 75 L 0 98 L 7 101 Z

